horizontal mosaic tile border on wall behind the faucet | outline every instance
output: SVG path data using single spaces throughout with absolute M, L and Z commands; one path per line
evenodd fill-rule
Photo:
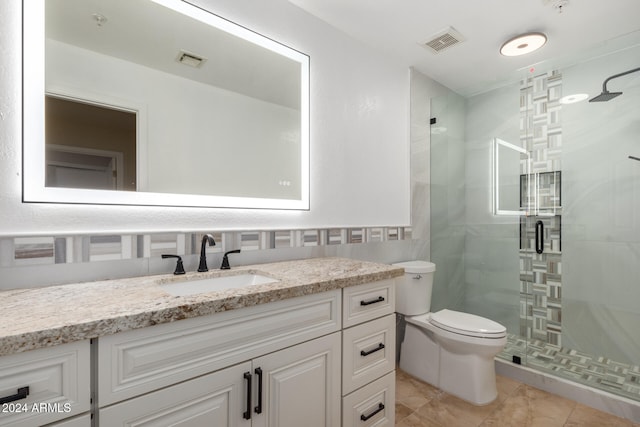
M 167 253 L 191 255 L 200 252 L 204 233 L 8 237 L 0 239 L 0 265 L 12 267 L 159 258 Z M 212 234 L 216 241 L 215 246 L 206 247 L 207 253 L 220 253 L 234 249 L 254 251 L 411 239 L 409 227 L 206 233 Z

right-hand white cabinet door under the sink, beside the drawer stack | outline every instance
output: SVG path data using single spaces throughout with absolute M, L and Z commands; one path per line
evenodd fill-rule
M 339 426 L 340 342 L 334 333 L 254 359 L 253 427 Z

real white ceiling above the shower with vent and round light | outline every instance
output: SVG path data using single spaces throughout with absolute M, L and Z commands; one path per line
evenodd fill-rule
M 640 0 L 289 1 L 464 96 L 559 58 L 577 61 L 586 51 L 616 49 L 622 39 L 640 43 Z M 448 27 L 465 41 L 437 54 L 420 45 Z M 534 31 L 548 37 L 539 51 L 499 53 L 508 39 Z

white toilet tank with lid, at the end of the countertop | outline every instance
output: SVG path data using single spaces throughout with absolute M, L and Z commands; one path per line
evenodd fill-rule
M 396 311 L 405 316 L 428 313 L 436 265 L 428 261 L 405 261 L 393 264 L 404 268 L 396 279 Z

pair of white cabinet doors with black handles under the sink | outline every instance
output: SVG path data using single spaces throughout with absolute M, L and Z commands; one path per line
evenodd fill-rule
M 338 426 L 339 367 L 338 332 L 101 409 L 100 426 Z

